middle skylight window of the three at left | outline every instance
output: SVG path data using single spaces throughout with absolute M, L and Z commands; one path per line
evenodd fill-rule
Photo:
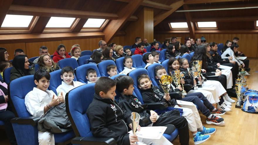
M 74 22 L 75 18 L 65 18 L 65 17 L 51 17 L 48 21 L 47 28 L 69 28 Z

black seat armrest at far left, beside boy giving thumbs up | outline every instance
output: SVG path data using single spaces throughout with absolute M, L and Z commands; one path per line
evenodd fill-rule
M 32 126 L 38 125 L 38 121 L 41 117 L 16 117 L 11 119 L 11 123 L 17 124 L 30 124 Z

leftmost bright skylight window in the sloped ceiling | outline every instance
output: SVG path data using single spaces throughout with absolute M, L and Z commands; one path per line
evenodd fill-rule
M 1 27 L 28 27 L 33 16 L 6 15 Z

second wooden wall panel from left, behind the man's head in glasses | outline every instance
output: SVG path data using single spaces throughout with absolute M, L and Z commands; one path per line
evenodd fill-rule
M 29 58 L 39 56 L 40 46 L 46 46 L 50 55 L 54 54 L 57 46 L 62 44 L 62 41 L 48 41 L 48 42 L 29 42 L 26 43 L 26 51 Z

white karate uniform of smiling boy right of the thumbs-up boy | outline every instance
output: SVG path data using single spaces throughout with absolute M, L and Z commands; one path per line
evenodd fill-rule
M 59 85 L 56 89 L 57 94 L 61 94 L 61 92 L 63 92 L 63 96 L 65 98 L 67 92 L 69 92 L 70 90 L 72 90 L 76 87 L 82 86 L 85 83 L 81 83 L 79 81 L 72 81 L 72 84 L 73 85 L 69 85 L 69 84 L 66 84 L 64 81 L 62 81 L 62 84 Z

